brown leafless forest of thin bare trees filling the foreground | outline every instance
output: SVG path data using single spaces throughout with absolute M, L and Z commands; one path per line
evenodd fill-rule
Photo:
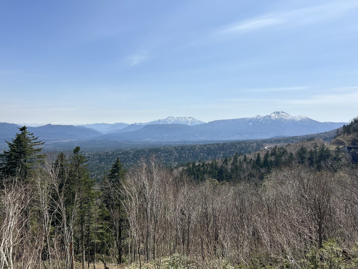
M 67 200 L 71 173 L 54 164 L 26 183 L 4 181 L 0 268 L 87 268 L 103 259 L 109 268 L 177 268 L 168 257 L 186 268 L 343 268 L 357 257 L 357 169 L 282 167 L 262 182 L 229 184 L 179 180 L 141 160 L 120 188 L 105 180 L 83 213 L 82 190 Z

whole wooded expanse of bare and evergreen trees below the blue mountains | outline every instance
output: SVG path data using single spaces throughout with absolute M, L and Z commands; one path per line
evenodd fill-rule
M 0 269 L 358 266 L 357 153 L 322 137 L 113 151 L 90 176 L 95 153 L 44 156 L 19 131 L 0 154 Z

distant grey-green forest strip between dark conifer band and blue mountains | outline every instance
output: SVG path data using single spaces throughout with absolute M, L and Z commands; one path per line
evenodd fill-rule
M 146 147 L 107 150 L 91 150 L 82 147 L 88 161 L 91 178 L 101 180 L 103 171 L 110 169 L 111 164 L 119 157 L 125 168 L 135 165 L 141 158 L 148 159 L 155 156 L 161 164 L 178 167 L 192 161 L 209 161 L 243 155 L 263 149 L 268 145 L 286 145 L 302 140 L 320 139 L 323 143 L 333 140 L 336 130 L 305 136 L 270 138 L 263 140 L 242 140 L 235 142 L 211 143 L 204 145 L 183 145 L 172 147 Z

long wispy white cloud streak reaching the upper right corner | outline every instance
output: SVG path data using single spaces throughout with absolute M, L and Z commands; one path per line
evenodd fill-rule
M 269 13 L 249 20 L 224 25 L 220 34 L 237 34 L 269 28 L 276 25 L 302 25 L 339 18 L 358 8 L 358 1 L 339 1 L 337 3 L 291 10 L 281 13 Z

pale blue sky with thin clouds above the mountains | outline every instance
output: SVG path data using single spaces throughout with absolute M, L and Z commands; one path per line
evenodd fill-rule
M 358 115 L 358 0 L 0 1 L 0 122 Z

